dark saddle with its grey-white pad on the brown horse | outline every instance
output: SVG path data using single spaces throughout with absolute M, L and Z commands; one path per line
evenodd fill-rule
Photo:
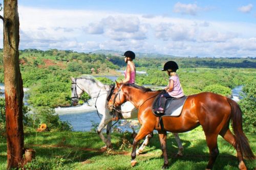
M 183 96 L 181 98 L 169 98 L 166 99 L 165 102 L 165 107 L 164 107 L 164 113 L 159 114 L 158 112 L 155 112 L 157 108 L 159 108 L 159 103 L 160 103 L 160 96 L 159 94 L 152 106 L 152 111 L 156 116 L 174 116 L 177 117 L 181 114 L 183 110 L 184 103 L 186 102 L 187 96 Z

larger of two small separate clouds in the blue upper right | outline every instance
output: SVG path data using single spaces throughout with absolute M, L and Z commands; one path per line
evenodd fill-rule
M 189 14 L 189 15 L 197 15 L 197 12 L 200 10 L 196 4 L 182 4 L 180 2 L 174 5 L 173 11 L 175 13 Z

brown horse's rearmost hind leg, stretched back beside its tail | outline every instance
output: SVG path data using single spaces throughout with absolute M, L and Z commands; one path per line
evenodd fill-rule
M 241 151 L 240 151 L 240 148 L 239 148 L 239 147 L 236 148 L 236 145 L 235 145 L 236 139 L 234 139 L 234 135 L 232 134 L 232 132 L 231 132 L 229 129 L 227 129 L 226 132 L 224 132 L 224 133 L 221 132 L 220 135 L 221 135 L 227 142 L 229 142 L 229 143 L 234 147 L 234 149 L 237 150 L 238 162 L 239 162 L 239 169 L 243 169 L 243 170 L 247 169 L 246 166 L 245 166 L 245 163 L 244 163 L 244 161 L 243 161 L 243 156 L 242 156 L 242 153 L 241 153 Z

